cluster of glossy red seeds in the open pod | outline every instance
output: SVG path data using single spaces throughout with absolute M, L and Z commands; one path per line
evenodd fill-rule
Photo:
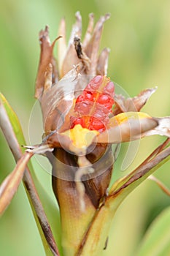
M 71 129 L 80 124 L 83 128 L 103 132 L 109 122 L 109 113 L 114 104 L 115 86 L 106 76 L 97 75 L 82 94 L 77 97 L 74 110 L 78 117 L 72 116 Z

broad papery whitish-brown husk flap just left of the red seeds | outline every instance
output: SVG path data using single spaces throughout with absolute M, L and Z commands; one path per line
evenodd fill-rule
M 58 130 L 72 108 L 74 91 L 77 86 L 78 67 L 70 70 L 58 83 L 53 85 L 51 65 L 46 69 L 45 91 L 41 98 L 43 122 L 46 134 Z M 66 121 L 65 121 L 66 124 Z

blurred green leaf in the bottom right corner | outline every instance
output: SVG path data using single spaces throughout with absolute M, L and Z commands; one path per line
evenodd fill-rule
M 150 225 L 137 256 L 170 255 L 170 207 L 166 208 Z

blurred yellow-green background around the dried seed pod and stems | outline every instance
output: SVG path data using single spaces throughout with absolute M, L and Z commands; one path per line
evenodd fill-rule
M 106 12 L 111 13 L 111 18 L 105 23 L 101 42 L 101 48 L 107 46 L 111 49 L 108 75 L 131 96 L 142 89 L 158 86 L 144 111 L 151 116 L 169 115 L 169 0 L 1 0 L 0 87 L 20 118 L 27 143 L 28 122 L 35 102 L 39 30 L 48 24 L 53 40 L 57 35 L 59 21 L 65 17 L 69 38 L 77 10 L 82 14 L 83 32 L 88 24 L 88 13 L 94 12 L 96 20 Z M 144 138 L 130 169 L 147 157 L 161 141 L 163 138 L 158 136 Z M 2 135 L 0 143 L 1 182 L 15 167 L 15 162 Z M 120 172 L 121 155 L 123 157 L 123 153 L 115 164 L 117 176 L 125 174 Z M 53 197 L 50 175 L 39 167 L 35 159 L 33 162 L 45 191 Z M 170 163 L 166 163 L 157 171 L 156 176 L 170 187 L 169 167 Z M 145 181 L 117 211 L 104 255 L 135 255 L 146 228 L 169 204 L 169 197 L 152 181 Z M 45 255 L 23 185 L 20 185 L 11 205 L 0 219 L 0 251 L 3 256 Z

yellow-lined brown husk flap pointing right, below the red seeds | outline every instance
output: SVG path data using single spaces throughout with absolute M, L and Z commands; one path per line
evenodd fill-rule
M 126 120 L 120 116 L 126 116 Z M 139 140 L 150 135 L 164 135 L 170 137 L 170 118 L 151 118 L 142 116 L 141 112 L 127 112 L 110 119 L 110 128 L 107 132 L 98 135 L 98 143 L 120 143 Z M 134 118 L 136 116 L 136 118 Z

